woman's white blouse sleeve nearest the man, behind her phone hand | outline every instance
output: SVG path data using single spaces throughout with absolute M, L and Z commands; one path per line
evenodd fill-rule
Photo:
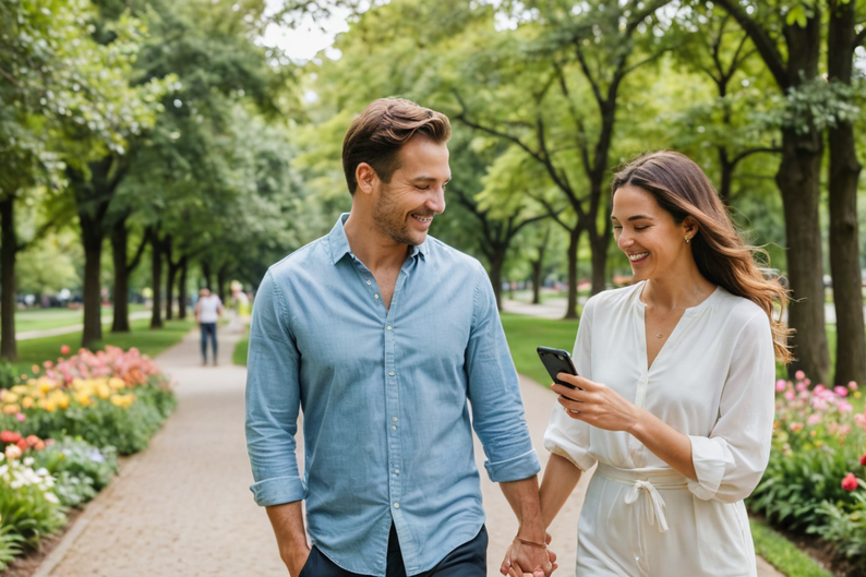
M 584 308 L 584 315 L 577 328 L 574 354 L 575 369 L 578 374 L 592 380 L 592 311 L 590 299 Z M 554 402 L 548 430 L 544 432 L 544 448 L 572 461 L 577 468 L 586 471 L 596 465 L 596 457 L 589 453 L 590 425 L 584 421 L 572 419 L 558 402 Z

